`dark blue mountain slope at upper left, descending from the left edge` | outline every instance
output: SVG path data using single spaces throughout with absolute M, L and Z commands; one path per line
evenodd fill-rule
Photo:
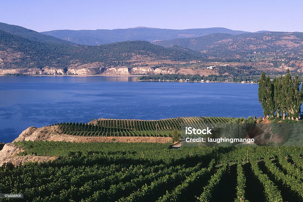
M 42 42 L 42 43 L 72 44 L 71 42 L 68 42 L 66 40 L 61 40 L 56 37 L 41 34 L 34 30 L 29 30 L 24 27 L 12 25 L 12 24 L 6 24 L 2 22 L 0 22 L 0 30 L 10 34 L 17 35 L 19 37 L 23 37 L 25 39 Z

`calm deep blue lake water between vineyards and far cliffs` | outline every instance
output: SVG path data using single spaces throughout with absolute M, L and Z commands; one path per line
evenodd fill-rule
M 0 141 L 5 143 L 30 126 L 182 116 L 262 116 L 258 85 L 103 76 L 0 77 Z

